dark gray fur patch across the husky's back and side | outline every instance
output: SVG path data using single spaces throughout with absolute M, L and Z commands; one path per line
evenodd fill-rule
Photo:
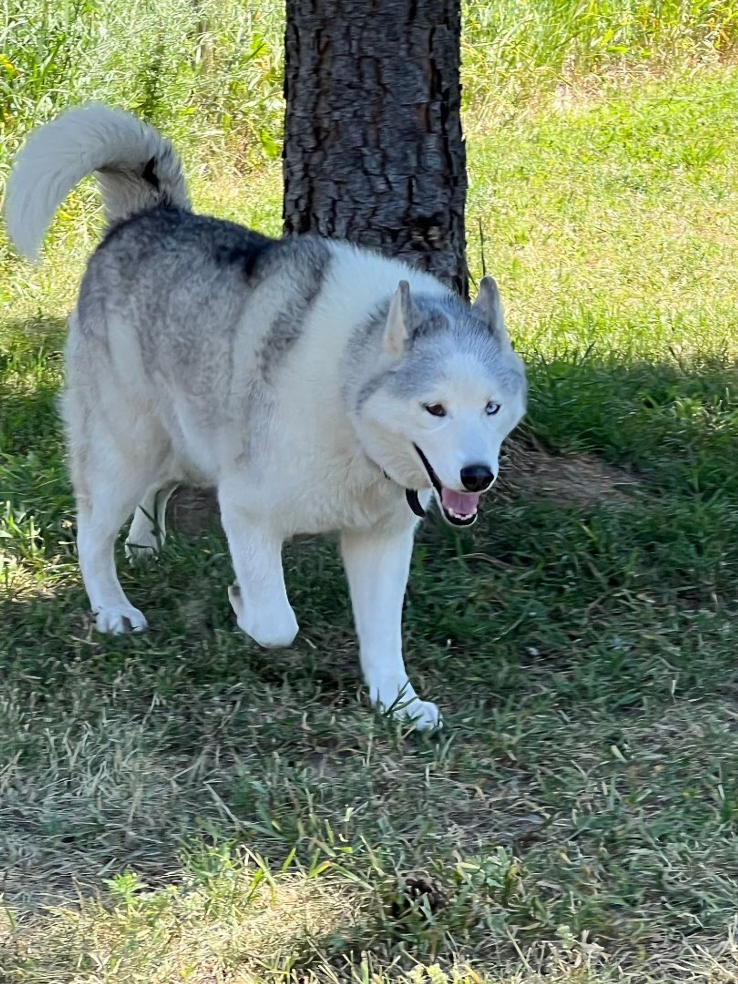
M 330 263 L 319 239 L 271 239 L 235 223 L 157 208 L 115 225 L 92 255 L 78 303 L 82 332 L 107 332 L 105 311 L 136 331 L 145 370 L 192 396 L 227 394 L 244 309 L 262 290 L 271 316 L 251 338 L 273 380 L 300 338 Z M 105 341 L 105 338 L 101 338 Z

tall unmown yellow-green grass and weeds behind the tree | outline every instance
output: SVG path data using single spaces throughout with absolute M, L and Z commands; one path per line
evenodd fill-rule
M 119 103 L 165 126 L 193 164 L 280 153 L 277 0 L 4 0 L 0 174 L 23 134 L 64 106 Z M 467 126 L 569 87 L 730 58 L 735 0 L 465 0 Z

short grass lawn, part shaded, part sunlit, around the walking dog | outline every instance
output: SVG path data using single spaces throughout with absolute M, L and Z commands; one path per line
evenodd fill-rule
M 481 222 L 549 477 L 503 488 L 472 533 L 419 536 L 405 640 L 438 740 L 365 706 L 331 542 L 286 551 L 302 631 L 269 658 L 235 629 L 216 531 L 149 569 L 121 558 L 153 629 L 92 631 L 54 411 L 90 189 L 40 267 L 0 243 L 0 980 L 738 977 L 738 70 L 694 67 L 732 21 L 692 7 L 702 22 L 562 4 L 546 35 L 522 5 L 540 98 L 469 93 L 470 260 Z M 627 58 L 585 43 L 608 17 Z M 628 85 L 602 82 L 624 59 Z M 235 176 L 251 131 L 209 119 L 183 141 L 198 207 L 277 232 L 277 162 Z

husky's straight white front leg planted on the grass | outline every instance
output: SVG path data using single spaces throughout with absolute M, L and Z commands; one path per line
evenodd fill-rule
M 402 660 L 402 601 L 412 554 L 413 529 L 400 533 L 350 531 L 341 536 L 359 656 L 371 700 L 418 728 L 437 728 L 435 704 L 420 701 Z

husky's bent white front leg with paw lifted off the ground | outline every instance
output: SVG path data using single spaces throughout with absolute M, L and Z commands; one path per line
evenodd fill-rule
M 218 491 L 220 521 L 228 539 L 236 583 L 228 599 L 239 628 L 260 646 L 290 646 L 297 620 L 287 599 L 281 539 L 239 506 L 237 491 Z

